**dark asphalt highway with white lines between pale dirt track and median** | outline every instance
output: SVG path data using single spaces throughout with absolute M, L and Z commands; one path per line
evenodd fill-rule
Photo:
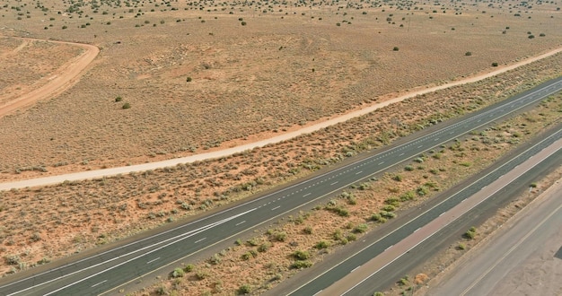
M 441 129 L 428 135 L 223 212 L 12 283 L 6 283 L 9 278 L 3 279 L 0 281 L 0 295 L 92 295 L 110 291 L 122 283 L 197 254 L 226 239 L 233 239 L 242 231 L 275 220 L 296 207 L 311 204 L 421 152 L 523 109 L 560 89 L 562 77 L 470 114 L 451 125 L 445 122 Z M 321 289 L 315 287 L 313 290 L 318 292 Z M 305 294 L 312 295 L 313 292 Z

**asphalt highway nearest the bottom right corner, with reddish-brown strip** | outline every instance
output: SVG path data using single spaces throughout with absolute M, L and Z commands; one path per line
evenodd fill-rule
M 464 187 L 456 194 L 453 194 L 452 196 L 444 199 L 440 204 L 435 205 L 425 213 L 419 214 L 416 218 L 400 226 L 400 228 L 392 231 L 390 234 L 382 237 L 381 239 L 376 240 L 369 246 L 363 248 L 359 252 L 356 252 L 356 254 L 354 254 L 353 256 L 347 257 L 337 266 L 333 266 L 332 268 L 313 278 L 312 280 L 303 283 L 303 285 L 301 285 L 294 291 L 288 292 L 288 294 L 372 295 L 373 291 L 384 290 L 384 288 L 386 288 L 384 284 L 388 284 L 389 277 L 391 278 L 391 281 L 397 281 L 400 276 L 403 275 L 396 274 L 395 272 L 390 273 L 388 270 L 389 268 L 392 268 L 391 264 L 405 265 L 403 261 L 400 261 L 398 259 L 400 259 L 400 257 L 404 256 L 407 253 L 418 254 L 417 249 L 420 248 L 419 245 L 423 244 L 423 248 L 429 248 L 430 250 L 433 249 L 431 245 L 426 244 L 426 239 L 435 234 L 441 235 L 441 233 L 439 232 L 440 230 L 437 229 L 437 227 L 433 227 L 431 229 L 428 228 L 428 230 L 426 230 L 426 225 L 436 222 L 439 219 L 443 220 L 443 222 L 436 223 L 439 225 L 439 227 L 445 227 L 449 225 L 452 221 L 463 214 L 460 210 L 457 210 L 457 213 L 453 213 L 452 209 L 455 206 L 460 205 L 461 203 L 464 206 L 467 206 L 467 204 L 471 204 L 472 202 L 470 202 L 469 200 L 469 198 L 472 198 L 471 196 L 480 195 L 482 197 L 479 198 L 482 198 L 483 200 L 488 197 L 490 199 L 493 199 L 493 196 L 495 196 L 501 188 L 507 186 L 508 184 L 511 184 L 512 181 L 510 181 L 509 183 L 501 184 L 501 187 L 499 188 L 490 187 L 490 185 L 494 185 L 493 183 L 496 180 L 510 173 L 511 170 L 514 170 L 518 166 L 522 165 L 524 161 L 529 160 L 533 155 L 541 152 L 548 146 L 552 145 L 551 149 L 555 150 L 555 153 L 560 153 L 560 149 L 562 149 L 562 142 L 559 140 L 561 138 L 562 129 L 559 129 L 558 132 L 554 133 L 553 135 L 549 135 L 549 137 L 543 139 L 542 141 L 540 141 L 540 143 L 535 144 L 530 149 L 527 149 L 526 151 L 518 154 L 511 161 L 505 162 L 505 164 L 498 167 L 496 170 L 493 170 L 482 178 L 479 178 L 477 181 L 471 183 L 467 187 Z M 557 156 L 558 155 L 555 155 L 555 157 Z M 548 157 L 546 158 L 548 159 Z M 515 178 L 513 178 L 513 180 L 519 178 L 522 175 L 522 173 L 512 174 L 516 176 Z M 488 194 L 488 192 L 491 192 L 491 194 Z M 482 201 L 473 206 L 479 206 L 480 203 L 482 203 Z M 468 210 L 472 209 L 473 207 L 469 208 Z M 477 209 L 477 211 L 479 211 L 479 209 Z M 447 215 L 450 216 L 447 217 Z M 426 232 L 426 234 L 423 234 L 422 237 L 419 237 L 419 234 L 423 232 Z M 404 239 L 407 239 L 410 236 L 417 236 L 418 238 L 415 238 L 417 240 L 412 240 L 410 245 L 398 246 Z M 399 253 L 392 254 L 396 257 L 386 257 L 386 254 L 389 253 L 389 250 L 391 249 L 392 253 L 395 248 L 401 248 Z M 364 266 L 364 264 L 373 259 L 373 257 L 377 257 L 379 255 L 382 255 L 380 262 L 378 263 L 380 269 L 374 270 L 372 274 L 368 274 L 366 277 L 361 278 L 361 281 L 359 281 L 359 283 L 356 283 L 351 287 L 344 288 L 343 290 L 329 289 L 329 286 L 332 283 L 338 282 L 339 279 L 347 276 L 348 274 L 350 274 L 349 276 L 351 277 L 356 277 L 356 270 L 358 268 Z M 417 259 L 419 259 L 419 257 Z M 355 280 L 350 279 L 349 281 L 353 282 Z M 343 283 L 341 285 L 346 287 L 346 283 Z

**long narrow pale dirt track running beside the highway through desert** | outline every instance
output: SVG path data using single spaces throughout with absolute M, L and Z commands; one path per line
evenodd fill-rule
M 87 46 L 87 45 L 82 45 L 82 46 L 90 47 L 90 46 Z M 96 55 L 97 55 L 97 52 L 99 51 L 99 49 L 96 48 L 96 50 L 97 50 L 96 51 Z M 88 170 L 88 171 L 82 171 L 82 172 L 68 173 L 68 174 L 64 174 L 64 175 L 49 176 L 49 177 L 44 177 L 44 178 L 31 178 L 31 179 L 24 179 L 24 180 L 20 180 L 20 181 L 5 182 L 5 183 L 0 183 L 0 190 L 8 190 L 8 189 L 11 189 L 11 188 L 46 186 L 46 185 L 62 183 L 66 180 L 67 181 L 75 181 L 75 180 L 83 180 L 83 179 L 88 179 L 88 178 L 102 178 L 102 177 L 106 177 L 106 176 L 115 176 L 115 175 L 119 175 L 119 174 L 127 174 L 127 173 L 133 172 L 133 171 L 156 170 L 156 169 L 160 169 L 160 168 L 164 168 L 164 167 L 172 167 L 172 166 L 175 166 L 175 165 L 180 164 L 180 163 L 188 163 L 188 162 L 193 162 L 193 161 L 204 161 L 204 160 L 208 160 L 208 159 L 220 158 L 220 157 L 232 155 L 233 153 L 251 150 L 255 147 L 262 147 L 262 146 L 265 146 L 267 144 L 276 144 L 276 143 L 279 143 L 279 142 L 283 142 L 283 141 L 289 140 L 289 139 L 294 138 L 294 137 L 299 136 L 299 135 L 310 134 L 312 132 L 320 130 L 321 128 L 324 128 L 324 127 L 327 127 L 327 126 L 333 126 L 333 125 L 336 125 L 338 123 L 347 121 L 351 118 L 357 118 L 357 117 L 363 116 L 365 114 L 373 112 L 376 109 L 381 109 L 381 108 L 386 107 L 386 106 L 388 106 L 392 103 L 396 103 L 396 102 L 400 102 L 402 100 L 413 98 L 413 97 L 416 97 L 417 95 L 421 95 L 421 94 L 425 94 L 425 93 L 429 93 L 429 92 L 433 92 L 433 91 L 439 91 L 439 90 L 443 90 L 443 89 L 446 89 L 446 88 L 450 88 L 450 87 L 465 84 L 465 83 L 475 83 L 475 82 L 478 82 L 480 80 L 484 80 L 488 77 L 492 77 L 494 75 L 502 74 L 502 73 L 505 73 L 509 70 L 513 70 L 514 68 L 517 68 L 519 66 L 528 65 L 528 64 L 530 64 L 532 62 L 535 62 L 535 61 L 538 61 L 542 58 L 551 57 L 553 55 L 558 54 L 559 52 L 562 52 L 562 48 L 550 50 L 549 52 L 544 53 L 540 56 L 527 58 L 525 60 L 522 60 L 521 62 L 514 63 L 513 65 L 507 65 L 507 66 L 499 67 L 495 71 L 492 71 L 492 72 L 489 72 L 489 73 L 486 73 L 486 74 L 479 74 L 479 75 L 469 77 L 469 78 L 466 78 L 466 79 L 463 79 L 463 80 L 460 80 L 460 81 L 455 81 L 455 82 L 452 82 L 452 83 L 444 83 L 442 85 L 426 88 L 426 89 L 420 90 L 420 91 L 411 91 L 411 92 L 408 92 L 407 94 L 404 94 L 400 97 L 397 97 L 397 98 L 394 98 L 394 99 L 391 99 L 391 100 L 385 100 L 381 103 L 375 103 L 373 105 L 367 106 L 366 108 L 357 109 L 355 111 L 351 111 L 351 112 L 349 112 L 345 115 L 342 115 L 342 116 L 339 116 L 339 117 L 336 117 L 336 118 L 330 118 L 328 120 L 322 121 L 322 122 L 317 123 L 317 124 L 313 124 L 311 126 L 305 126 L 301 129 L 298 129 L 298 130 L 293 131 L 293 132 L 288 132 L 288 133 L 285 133 L 283 135 L 277 135 L 277 136 L 274 136 L 274 137 L 271 137 L 271 138 L 268 138 L 268 139 L 265 139 L 265 140 L 261 140 L 261 141 L 258 141 L 258 142 L 250 143 L 250 144 L 242 144 L 240 146 L 227 148 L 227 149 L 224 149 L 224 150 L 219 150 L 219 151 L 215 151 L 215 152 L 206 152 L 206 153 L 201 153 L 201 154 L 196 154 L 196 155 L 190 155 L 190 156 L 187 156 L 187 157 L 181 157 L 181 158 L 176 158 L 176 159 L 171 159 L 171 160 L 166 160 L 166 161 L 154 161 L 154 162 L 149 162 L 149 163 L 143 163 L 143 164 L 137 164 L 137 165 L 125 166 L 125 167 L 110 168 L 110 169 L 104 169 L 104 170 Z M 92 59 L 93 59 L 93 57 L 92 57 Z M 2 116 L 2 112 L 0 112 L 0 117 L 1 116 Z

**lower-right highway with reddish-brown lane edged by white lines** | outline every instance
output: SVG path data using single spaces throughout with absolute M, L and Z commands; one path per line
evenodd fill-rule
M 464 216 L 468 216 L 468 213 L 480 213 L 487 204 L 495 203 L 498 198 L 505 198 L 505 187 L 514 185 L 523 175 L 536 169 L 536 166 L 559 159 L 560 155 L 562 129 L 348 257 L 340 265 L 302 285 L 293 292 L 294 295 L 312 295 L 322 289 L 319 296 L 373 295 L 374 291 L 386 290 L 406 273 L 404 266 L 411 266 L 412 262 L 419 264 L 424 258 L 433 255 L 437 245 L 435 240 L 457 232 L 459 228 L 456 224 L 460 223 L 457 220 L 470 220 Z M 468 226 L 464 229 L 468 229 Z M 367 262 L 369 263 L 366 264 Z M 362 270 L 365 264 L 368 268 Z M 346 276 L 338 283 L 329 287 L 326 285 Z

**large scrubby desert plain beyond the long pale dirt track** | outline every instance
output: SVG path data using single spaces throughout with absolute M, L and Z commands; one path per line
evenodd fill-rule
M 97 13 L 91 5 L 80 7 L 83 13 L 65 13 L 68 4 L 51 1 L 43 4 L 47 11 L 28 4 L 18 12 L 11 7 L 21 3 L 5 3 L 2 34 L 25 31 L 103 49 L 71 90 L 0 119 L 0 126 L 9 126 L 0 129 L 4 179 L 229 146 L 384 100 L 392 92 L 535 55 L 558 46 L 562 37 L 555 4 L 546 3 L 530 10 L 515 2 L 508 8 L 344 1 L 312 9 L 301 3 L 258 8 L 208 2 L 198 10 L 184 2 L 119 8 L 102 2 Z M 514 16 L 516 10 L 522 17 Z M 17 20 L 18 13 L 31 17 Z M 536 38 L 528 39 L 527 31 Z M 465 56 L 467 51 L 472 56 Z M 118 96 L 132 108 L 121 109 L 122 103 L 114 102 Z M 33 167 L 48 172 L 14 175 Z

